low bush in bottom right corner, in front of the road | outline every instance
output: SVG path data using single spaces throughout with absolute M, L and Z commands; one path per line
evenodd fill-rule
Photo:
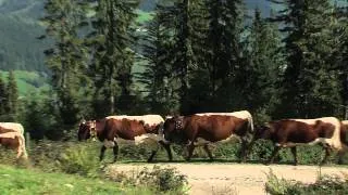
M 268 174 L 265 191 L 272 195 L 283 194 L 348 194 L 348 176 L 344 179 L 337 176 L 319 177 L 315 183 L 278 179 L 272 171 Z

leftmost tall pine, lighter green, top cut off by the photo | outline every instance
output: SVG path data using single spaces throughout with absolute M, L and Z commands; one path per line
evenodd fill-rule
M 57 92 L 58 108 L 65 125 L 79 120 L 79 113 L 86 106 L 87 53 L 80 28 L 86 25 L 84 0 L 49 0 L 45 3 L 46 16 L 41 21 L 47 25 L 46 34 L 54 41 L 54 47 L 46 50 L 46 64 L 52 74 L 52 87 Z M 42 36 L 41 38 L 45 38 Z

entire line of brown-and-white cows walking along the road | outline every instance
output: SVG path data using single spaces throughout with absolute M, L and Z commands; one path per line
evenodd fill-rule
M 23 127 L 20 123 L 0 122 L 0 144 L 17 151 L 17 158 L 27 158 Z M 196 146 L 203 146 L 210 159 L 213 155 L 209 144 L 238 140 L 241 143 L 240 161 L 246 161 L 253 143 L 259 139 L 271 140 L 274 151 L 268 164 L 272 164 L 281 148 L 290 147 L 294 165 L 297 165 L 297 145 L 320 144 L 325 151 L 321 164 L 327 160 L 332 151 L 338 152 L 339 161 L 348 151 L 348 120 L 335 117 L 315 119 L 282 119 L 254 126 L 247 110 L 234 113 L 202 113 L 189 116 L 172 116 L 163 119 L 160 115 L 108 116 L 98 120 L 82 121 L 78 141 L 98 139 L 103 143 L 100 160 L 108 147 L 113 148 L 117 158 L 119 144 L 130 141 L 135 144 L 151 145 L 151 161 L 160 146 L 165 148 L 169 160 L 173 159 L 170 145 L 186 145 L 189 160 Z

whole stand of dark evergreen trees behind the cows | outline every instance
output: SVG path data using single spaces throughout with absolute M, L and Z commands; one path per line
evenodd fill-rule
M 45 51 L 52 94 L 18 102 L 13 74 L 0 77 L 1 119 L 24 120 L 36 139 L 61 139 L 83 117 L 113 114 L 344 117 L 347 8 L 270 0 L 284 10 L 247 18 L 243 0 L 157 2 L 139 26 L 137 0 L 46 1 L 40 39 L 53 41 Z M 39 116 L 49 125 L 39 127 Z

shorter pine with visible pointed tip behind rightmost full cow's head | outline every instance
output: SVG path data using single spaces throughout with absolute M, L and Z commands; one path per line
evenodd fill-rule
M 246 42 L 248 63 L 245 74 L 248 75 L 248 79 L 243 95 L 249 103 L 249 109 L 257 113 L 257 117 L 265 119 L 273 114 L 278 104 L 278 76 L 285 63 L 277 25 L 261 18 L 257 9 Z

